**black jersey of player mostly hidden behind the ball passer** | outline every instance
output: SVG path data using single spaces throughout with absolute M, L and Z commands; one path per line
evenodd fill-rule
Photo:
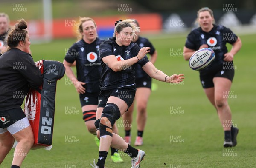
M 155 48 L 147 38 L 139 37 L 135 43 L 137 43 L 140 46 L 140 48 L 150 47 L 150 52 L 148 54 L 150 54 L 150 55 L 154 54 Z M 135 77 L 137 79 L 142 78 L 142 77 L 148 78 L 149 80 L 151 79 L 151 77 L 148 76 L 148 74 L 145 73 L 145 71 L 143 71 L 143 69 L 141 68 L 141 66 L 139 64 L 135 65 Z

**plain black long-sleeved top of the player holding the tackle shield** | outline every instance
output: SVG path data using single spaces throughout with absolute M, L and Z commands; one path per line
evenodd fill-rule
M 30 54 L 12 48 L 0 56 L 0 111 L 20 108 L 29 88 L 38 88 L 43 76 Z

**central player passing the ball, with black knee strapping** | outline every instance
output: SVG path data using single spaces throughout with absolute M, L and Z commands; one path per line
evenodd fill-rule
M 140 47 L 131 43 L 135 32 L 140 31 L 132 24 L 134 20 L 117 21 L 113 38 L 106 40 L 99 46 L 102 73 L 100 76 L 99 105 L 96 114 L 97 136 L 100 138 L 99 159 L 93 168 L 104 168 L 109 147 L 117 148 L 128 154 L 131 159 L 131 168 L 139 168 L 145 152 L 133 148 L 118 134 L 113 133 L 112 126 L 134 100 L 136 84 L 134 68 L 136 63 L 152 78 L 167 82 L 180 83 L 183 74 L 168 76 L 148 60 L 146 54 L 149 47 Z M 95 161 L 95 160 L 94 160 Z

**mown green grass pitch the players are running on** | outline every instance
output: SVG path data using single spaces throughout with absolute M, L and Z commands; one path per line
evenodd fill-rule
M 233 122 L 239 127 L 238 145 L 223 151 L 224 133 L 215 108 L 207 100 L 199 81 L 198 72 L 192 71 L 181 56 L 171 56 L 171 49 L 183 50 L 186 37 L 152 38 L 157 48 L 157 68 L 166 74 L 184 73 L 182 85 L 169 85 L 154 80 L 158 85 L 148 103 L 148 121 L 144 132 L 146 157 L 142 168 L 252 168 L 256 165 L 256 110 L 253 83 L 256 83 L 256 57 L 254 35 L 240 36 L 243 46 L 235 56 L 237 66 L 231 91 L 237 98 L 229 105 Z M 75 39 L 55 40 L 49 44 L 31 45 L 35 61 L 41 59 L 63 61 L 65 49 Z M 230 46 L 229 46 L 230 48 Z M 89 168 L 98 157 L 98 148 L 82 120 L 79 96 L 73 85 L 67 85 L 67 77 L 58 81 L 56 95 L 53 148 L 32 150 L 23 162 L 23 168 Z M 74 107 L 79 114 L 65 114 L 65 107 Z M 179 107 L 184 114 L 170 114 L 171 107 Z M 253 108 L 254 107 L 254 108 Z M 134 113 L 135 114 L 135 113 Z M 135 115 L 134 115 L 135 121 Z M 124 136 L 119 127 L 120 136 Z M 65 136 L 76 136 L 77 143 L 66 143 Z M 136 123 L 132 125 L 132 143 L 136 136 Z M 173 143 L 170 136 L 181 136 L 182 143 Z M 11 151 L 0 167 L 10 167 Z M 233 156 L 224 157 L 230 154 Z M 110 155 L 107 168 L 128 168 L 131 158 L 122 153 L 124 163 L 114 164 Z

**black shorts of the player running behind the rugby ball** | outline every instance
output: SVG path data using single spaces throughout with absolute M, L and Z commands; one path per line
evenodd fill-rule
M 200 81 L 203 88 L 212 88 L 214 87 L 214 83 L 213 83 L 214 77 L 224 77 L 231 80 L 232 82 L 234 75 L 235 75 L 234 69 L 232 70 L 232 69 L 221 68 L 216 71 L 211 71 L 208 74 L 204 74 L 204 75 L 200 74 Z

